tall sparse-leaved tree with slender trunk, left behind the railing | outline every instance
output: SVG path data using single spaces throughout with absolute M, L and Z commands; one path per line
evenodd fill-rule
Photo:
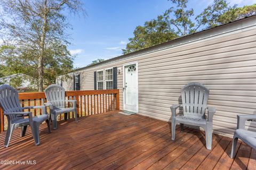
M 70 70 L 73 57 L 66 30 L 71 28 L 65 12 L 84 13 L 79 0 L 2 0 L 0 25 L 6 45 L 15 47 L 5 64 L 15 71 L 38 78 L 38 90 L 43 91 L 46 76 L 55 69 Z M 52 78 L 51 78 L 52 79 Z

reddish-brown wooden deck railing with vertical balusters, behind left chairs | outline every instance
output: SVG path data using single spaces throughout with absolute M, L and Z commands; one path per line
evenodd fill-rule
M 106 113 L 110 111 L 119 110 L 119 90 L 79 90 L 66 91 L 67 99 L 75 99 L 77 116 L 89 116 L 93 114 Z M 23 92 L 19 94 L 21 107 L 25 106 L 41 106 L 46 103 L 44 92 Z M 66 106 L 71 106 L 66 103 Z M 34 116 L 42 114 L 41 109 L 27 109 L 33 113 Z M 47 108 L 49 113 L 49 108 Z M 62 120 L 64 116 L 59 116 Z M 73 118 L 74 113 L 68 113 L 68 118 Z M 6 116 L 0 108 L 0 132 L 7 128 Z

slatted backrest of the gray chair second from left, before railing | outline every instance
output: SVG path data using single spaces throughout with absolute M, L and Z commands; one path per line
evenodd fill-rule
M 52 84 L 45 89 L 47 101 L 55 108 L 65 107 L 65 89 L 57 84 Z

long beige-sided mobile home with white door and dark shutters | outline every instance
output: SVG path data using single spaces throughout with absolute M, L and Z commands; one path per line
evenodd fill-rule
M 170 121 L 180 90 L 210 89 L 214 133 L 233 136 L 238 114 L 256 113 L 256 16 L 203 30 L 68 73 L 66 90 L 119 89 L 120 109 Z M 254 122 L 247 128 L 255 130 Z

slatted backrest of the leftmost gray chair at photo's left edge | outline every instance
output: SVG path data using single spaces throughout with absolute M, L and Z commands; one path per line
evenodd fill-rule
M 2 84 L 0 86 L 0 107 L 3 109 L 4 113 L 22 112 L 18 91 L 7 84 Z M 11 115 L 10 117 L 12 120 L 22 118 L 17 117 L 17 115 Z

